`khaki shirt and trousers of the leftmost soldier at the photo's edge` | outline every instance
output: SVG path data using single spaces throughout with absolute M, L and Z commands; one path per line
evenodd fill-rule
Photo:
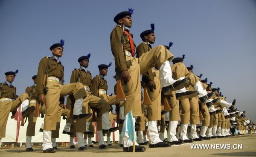
M 2 86 L 2 87 L 1 87 Z M 6 124 L 9 117 L 9 113 L 16 111 L 20 104 L 28 99 L 28 94 L 23 93 L 20 97 L 16 97 L 16 88 L 14 86 L 8 86 L 5 82 L 0 83 L 1 87 L 1 97 L 0 97 L 0 138 L 5 137 L 6 134 Z

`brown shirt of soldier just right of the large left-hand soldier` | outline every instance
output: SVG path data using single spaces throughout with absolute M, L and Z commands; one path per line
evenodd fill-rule
M 70 83 L 76 83 L 77 78 L 79 77 L 80 83 L 82 83 L 84 86 L 89 86 L 90 89 L 92 88 L 92 74 L 90 71 L 87 70 L 87 72 L 84 71 L 84 69 L 81 69 L 80 74 L 79 69 L 74 69 L 71 74 Z

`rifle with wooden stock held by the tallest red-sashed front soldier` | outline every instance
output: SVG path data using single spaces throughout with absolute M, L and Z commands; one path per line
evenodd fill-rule
M 126 54 L 125 54 L 125 44 L 124 44 L 124 30 L 125 25 L 122 26 L 122 37 L 121 37 L 121 46 L 123 50 L 123 54 L 125 57 L 125 62 L 126 62 Z M 122 84 L 124 89 L 122 88 Z M 116 68 L 116 101 L 125 101 L 126 97 L 125 94 L 127 94 L 127 82 L 121 83 L 121 71 Z

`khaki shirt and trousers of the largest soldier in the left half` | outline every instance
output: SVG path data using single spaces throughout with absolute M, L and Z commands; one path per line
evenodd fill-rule
M 50 59 L 50 62 L 49 62 Z M 44 117 L 44 130 L 56 130 L 58 121 L 59 102 L 64 101 L 65 95 L 73 94 L 75 100 L 85 97 L 85 90 L 81 83 L 70 83 L 63 85 L 64 67 L 61 62 L 57 62 L 54 56 L 44 57 L 38 66 L 36 90 L 39 94 L 44 94 L 44 73 L 49 62 L 47 78 L 46 111 Z M 50 80 L 50 77 L 55 80 Z M 58 81 L 61 80 L 61 83 Z

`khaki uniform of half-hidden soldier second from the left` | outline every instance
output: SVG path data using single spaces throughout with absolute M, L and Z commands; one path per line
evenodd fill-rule
M 38 101 L 37 101 L 38 94 L 37 94 L 35 85 L 33 85 L 31 87 L 27 87 L 26 94 L 28 94 L 29 97 L 31 96 L 29 107 L 31 107 L 31 106 L 36 107 L 36 105 L 38 103 Z M 29 123 L 28 123 L 27 130 L 26 130 L 26 136 L 35 136 L 35 123 L 36 123 L 37 117 L 34 117 L 34 112 L 28 115 Z

